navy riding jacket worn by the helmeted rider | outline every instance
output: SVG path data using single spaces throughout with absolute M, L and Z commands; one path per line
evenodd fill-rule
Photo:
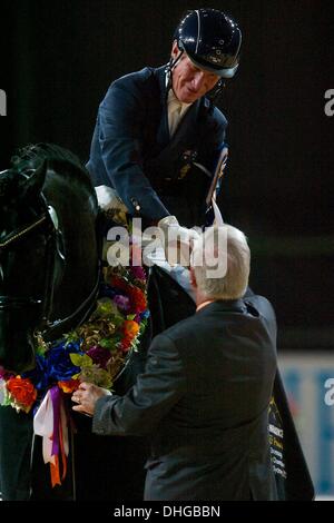
M 171 139 L 165 67 L 145 68 L 111 83 L 99 106 L 87 168 L 94 185 L 114 187 L 131 215 L 136 201 L 150 220 L 175 214 L 183 225 L 200 225 L 196 209 L 204 205 L 226 126 L 223 114 L 202 98 Z

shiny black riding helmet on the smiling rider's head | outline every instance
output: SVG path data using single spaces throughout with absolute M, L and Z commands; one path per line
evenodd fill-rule
M 216 9 L 187 12 L 174 39 L 195 66 L 222 78 L 233 78 L 238 65 L 242 31 L 227 14 Z

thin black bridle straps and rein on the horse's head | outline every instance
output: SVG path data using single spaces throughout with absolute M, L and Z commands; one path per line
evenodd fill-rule
M 65 262 L 66 257 L 61 254 L 59 248 L 59 239 L 62 234 L 59 229 L 58 220 L 56 223 L 53 218 L 56 211 L 50 206 L 48 206 L 47 209 L 48 210 L 46 210 L 35 221 L 9 233 L 4 238 L 1 238 L 0 240 L 1 255 L 2 251 L 10 248 L 13 244 L 20 241 L 27 235 L 42 228 L 43 233 L 46 234 L 47 240 L 43 294 L 41 297 L 38 298 L 33 298 L 31 296 L 0 296 L 0 310 L 20 310 L 27 307 L 41 307 L 41 322 L 40 325 L 38 325 L 38 328 L 46 341 L 52 341 L 84 323 L 92 310 L 96 304 L 100 285 L 100 260 L 98 263 L 96 283 L 87 298 L 81 302 L 77 309 L 68 317 L 62 319 L 56 319 L 51 323 L 49 318 L 51 315 L 53 302 L 56 258 L 58 256 L 62 259 L 62 262 Z

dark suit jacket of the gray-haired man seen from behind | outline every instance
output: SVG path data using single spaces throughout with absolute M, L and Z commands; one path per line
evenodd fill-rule
M 97 434 L 150 434 L 146 500 L 275 500 L 269 303 L 215 302 L 158 335 L 122 397 L 97 402 Z M 112 443 L 110 443 L 112 444 Z

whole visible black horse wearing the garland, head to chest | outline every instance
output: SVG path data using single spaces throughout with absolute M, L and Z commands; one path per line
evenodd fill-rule
M 51 342 L 90 315 L 99 290 L 99 230 L 94 187 L 71 152 L 29 146 L 0 174 L 0 365 L 6 369 L 33 367 L 36 328 Z M 124 387 L 119 381 L 119 392 Z M 72 466 L 65 484 L 51 490 L 38 437 L 30 470 L 32 415 L 0 407 L 3 497 L 29 499 L 32 487 L 32 499 L 141 499 L 141 445 L 94 436 L 84 416 L 75 416 L 75 432 Z

